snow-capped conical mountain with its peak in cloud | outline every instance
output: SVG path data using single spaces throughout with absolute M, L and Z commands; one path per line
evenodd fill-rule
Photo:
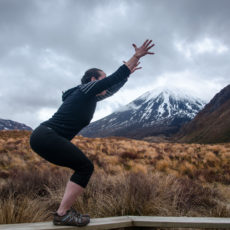
M 206 103 L 181 90 L 148 91 L 112 114 L 92 122 L 79 134 L 87 137 L 143 138 L 176 133 Z

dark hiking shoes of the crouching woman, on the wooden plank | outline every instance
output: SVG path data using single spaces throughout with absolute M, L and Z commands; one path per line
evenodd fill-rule
M 77 212 L 74 208 L 67 210 L 64 216 L 59 216 L 57 212 L 53 216 L 54 225 L 71 225 L 71 226 L 85 226 L 90 222 L 88 214 L 83 215 Z

